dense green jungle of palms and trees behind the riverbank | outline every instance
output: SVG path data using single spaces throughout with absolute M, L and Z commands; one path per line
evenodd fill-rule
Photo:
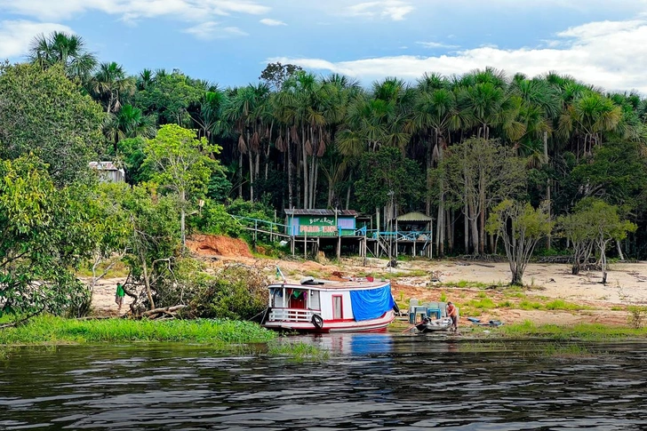
M 62 283 L 52 262 L 25 245 L 50 235 L 50 259 L 65 267 L 119 253 L 153 303 L 150 283 L 181 254 L 185 222 L 236 235 L 223 214 L 384 214 L 391 196 L 397 212 L 434 218 L 440 255 L 496 252 L 486 220 L 507 199 L 556 220 L 586 198 L 637 225 L 611 238 L 617 248 L 605 243 L 611 254 L 647 256 L 647 100 L 577 76 L 510 72 L 429 71 L 416 82 L 389 77 L 365 87 L 275 63 L 256 83 L 221 88 L 180 70 L 129 75 L 99 62 L 79 36 L 39 36 L 28 61 L 0 68 L 0 285 Z M 130 187 L 98 186 L 91 160 L 122 165 Z M 69 205 L 60 214 L 67 223 L 49 222 L 48 208 L 63 201 L 102 204 Z M 72 238 L 68 227 L 92 243 L 70 239 L 53 252 Z M 558 231 L 536 251 L 574 243 Z M 27 266 L 27 278 L 14 270 L 26 258 L 40 262 Z M 37 309 L 44 299 L 32 293 Z

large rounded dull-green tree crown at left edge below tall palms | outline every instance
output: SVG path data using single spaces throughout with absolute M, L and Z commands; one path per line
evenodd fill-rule
M 57 185 L 89 175 L 102 147 L 104 113 L 60 66 L 0 66 L 0 158 L 40 156 Z

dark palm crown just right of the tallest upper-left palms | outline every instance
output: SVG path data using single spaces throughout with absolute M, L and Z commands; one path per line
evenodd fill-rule
M 122 105 L 122 98 L 132 95 L 135 90 L 132 79 L 126 76 L 123 66 L 115 61 L 101 63 L 88 87 L 90 93 L 101 101 L 108 113 L 118 111 Z

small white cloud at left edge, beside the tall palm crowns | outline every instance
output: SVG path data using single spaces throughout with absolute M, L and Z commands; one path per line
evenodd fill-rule
M 68 26 L 52 22 L 4 20 L 0 22 L 0 59 L 16 59 L 28 52 L 29 44 L 41 33 L 52 31 L 74 33 Z

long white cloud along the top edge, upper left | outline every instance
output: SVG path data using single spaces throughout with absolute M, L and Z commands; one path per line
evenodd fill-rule
M 82 12 L 104 12 L 123 20 L 175 16 L 184 20 L 208 20 L 215 15 L 260 15 L 268 6 L 248 0 L 0 0 L 0 10 L 39 20 L 69 19 Z

